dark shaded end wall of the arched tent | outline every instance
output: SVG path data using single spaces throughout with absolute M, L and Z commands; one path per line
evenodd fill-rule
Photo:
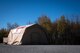
M 22 45 L 47 45 L 49 44 L 47 31 L 35 24 L 26 28 L 21 42 Z

